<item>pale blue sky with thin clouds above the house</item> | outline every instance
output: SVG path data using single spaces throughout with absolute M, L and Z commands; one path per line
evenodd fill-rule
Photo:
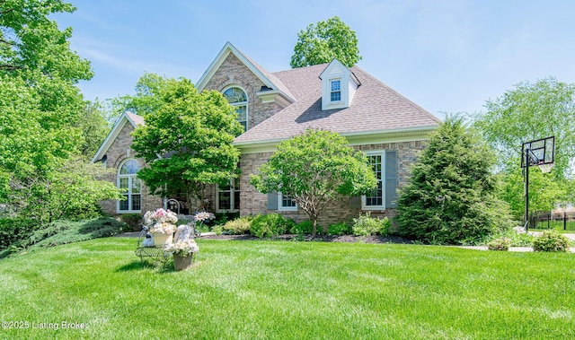
M 297 33 L 339 16 L 358 66 L 439 118 L 484 110 L 517 83 L 575 83 L 571 0 L 67 0 L 51 16 L 92 63 L 86 100 L 134 94 L 145 73 L 197 83 L 230 41 L 270 72 L 289 69 Z

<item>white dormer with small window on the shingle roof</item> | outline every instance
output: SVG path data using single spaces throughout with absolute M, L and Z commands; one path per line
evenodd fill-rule
M 346 109 L 351 105 L 353 96 L 358 90 L 358 77 L 341 64 L 338 59 L 325 67 L 322 74 L 322 110 Z

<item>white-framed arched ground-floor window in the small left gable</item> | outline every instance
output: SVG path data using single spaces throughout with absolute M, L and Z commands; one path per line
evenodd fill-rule
M 118 201 L 119 213 L 139 213 L 142 210 L 142 181 L 137 179 L 140 164 L 136 160 L 124 161 L 118 170 L 118 187 L 126 197 Z

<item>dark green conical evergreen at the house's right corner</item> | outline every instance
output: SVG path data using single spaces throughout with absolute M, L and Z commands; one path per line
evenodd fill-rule
M 439 244 L 479 243 L 510 227 L 507 205 L 496 198 L 493 154 L 461 119 L 447 118 L 398 199 L 403 236 Z

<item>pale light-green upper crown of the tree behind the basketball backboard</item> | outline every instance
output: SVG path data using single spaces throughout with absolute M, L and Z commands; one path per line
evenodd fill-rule
M 549 77 L 536 83 L 519 83 L 474 117 L 473 126 L 498 154 L 500 168 L 517 168 L 521 144 L 555 136 L 557 179 L 571 177 L 575 160 L 575 84 Z M 512 171 L 512 170 L 511 170 Z

